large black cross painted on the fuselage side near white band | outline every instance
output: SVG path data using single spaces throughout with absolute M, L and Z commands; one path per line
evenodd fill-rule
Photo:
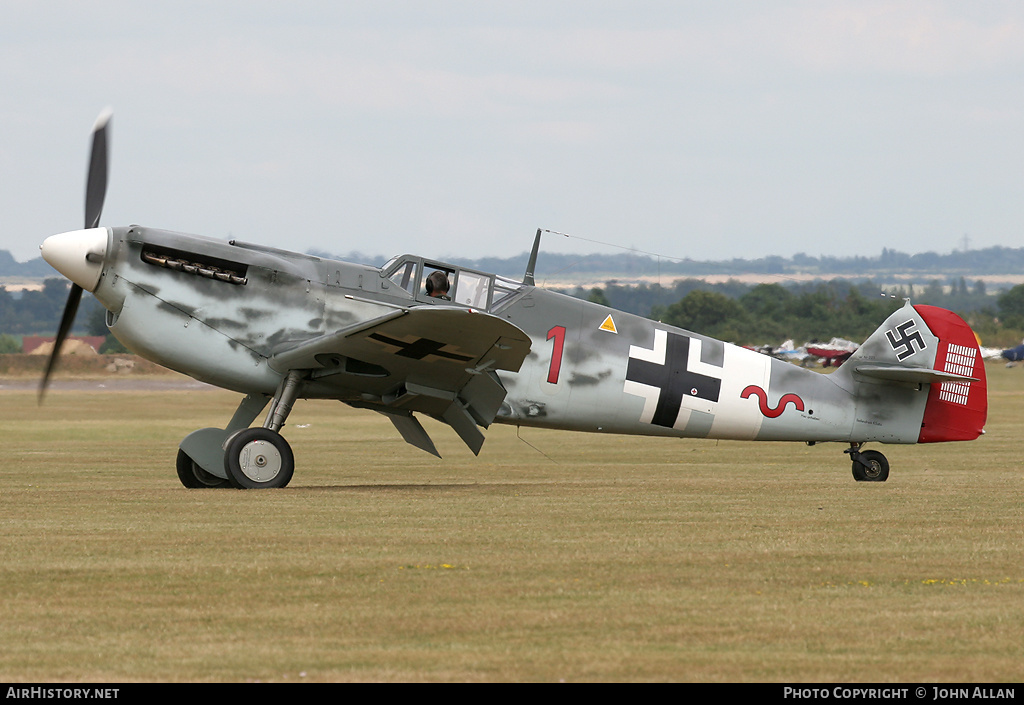
M 626 367 L 626 379 L 660 389 L 654 417 L 650 420 L 654 425 L 672 428 L 676 423 L 676 417 L 679 416 L 684 397 L 718 402 L 722 380 L 687 370 L 689 352 L 688 337 L 669 333 L 664 363 L 630 358 Z

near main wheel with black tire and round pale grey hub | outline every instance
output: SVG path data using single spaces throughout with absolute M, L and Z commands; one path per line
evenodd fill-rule
M 231 485 L 240 490 L 280 488 L 291 482 L 295 457 L 281 433 L 269 428 L 246 428 L 227 444 L 224 469 Z

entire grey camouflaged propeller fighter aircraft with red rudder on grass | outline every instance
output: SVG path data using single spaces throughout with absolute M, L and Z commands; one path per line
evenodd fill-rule
M 601 433 L 847 446 L 858 481 L 889 463 L 867 443 L 968 441 L 987 414 L 984 364 L 951 312 L 909 302 L 821 374 L 539 288 L 541 231 L 521 281 L 418 255 L 382 267 L 142 225 L 99 225 L 110 114 L 93 128 L 85 227 L 42 255 L 72 281 L 40 401 L 83 291 L 129 349 L 243 396 L 223 428 L 181 441 L 187 488 L 281 488 L 281 433 L 300 399 L 383 414 L 438 455 L 418 415 L 479 453 L 492 423 Z M 269 405 L 265 420 L 251 424 Z

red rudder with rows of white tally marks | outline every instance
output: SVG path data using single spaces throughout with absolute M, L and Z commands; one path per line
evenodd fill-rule
M 978 339 L 964 319 L 950 310 L 925 305 L 915 305 L 914 309 L 939 339 L 935 369 L 978 380 L 933 383 L 918 441 L 973 441 L 981 436 L 988 416 L 985 361 Z

